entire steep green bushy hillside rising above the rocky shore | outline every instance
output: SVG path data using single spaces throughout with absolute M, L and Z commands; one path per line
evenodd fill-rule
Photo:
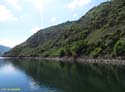
M 6 56 L 125 56 L 125 1 L 112 0 L 78 21 L 40 30 Z

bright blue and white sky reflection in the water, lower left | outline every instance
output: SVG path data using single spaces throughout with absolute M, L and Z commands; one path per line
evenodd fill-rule
M 29 76 L 25 68 L 19 64 L 18 61 L 0 60 L 0 92 L 16 92 L 13 91 L 16 88 L 20 88 L 21 92 L 51 92 L 53 90 L 47 85 L 39 85 L 39 82 Z M 4 88 L 5 91 L 2 90 Z

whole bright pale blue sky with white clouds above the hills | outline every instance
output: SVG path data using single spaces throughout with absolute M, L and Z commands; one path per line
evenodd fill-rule
M 0 44 L 14 47 L 39 29 L 78 20 L 107 0 L 0 0 Z

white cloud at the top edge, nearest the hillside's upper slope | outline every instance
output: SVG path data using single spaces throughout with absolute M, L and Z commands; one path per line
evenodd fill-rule
M 90 2 L 91 2 L 91 0 L 72 0 L 72 2 L 70 2 L 67 7 L 71 10 L 74 10 L 77 7 L 87 5 Z

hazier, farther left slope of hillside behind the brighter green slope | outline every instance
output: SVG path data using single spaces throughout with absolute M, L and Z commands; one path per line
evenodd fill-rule
M 11 51 L 6 53 L 5 56 L 36 55 L 36 53 L 38 53 L 41 48 L 46 47 L 47 44 L 50 45 L 51 43 L 53 43 L 53 41 L 57 39 L 60 34 L 64 32 L 65 29 L 70 29 L 73 24 L 73 22 L 68 21 L 63 24 L 39 30 L 24 43 L 14 47 Z

